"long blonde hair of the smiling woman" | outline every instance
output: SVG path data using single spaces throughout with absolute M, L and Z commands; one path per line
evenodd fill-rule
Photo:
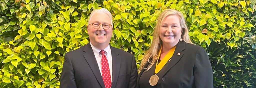
M 148 49 L 148 51 L 146 52 L 146 54 L 144 55 L 143 60 L 141 61 L 141 66 L 140 66 L 139 72 L 142 69 L 146 69 L 146 71 L 148 71 L 156 63 L 156 61 L 158 59 L 157 56 L 158 56 L 159 50 L 162 45 L 162 40 L 160 39 L 160 36 L 159 36 L 159 29 L 162 25 L 163 20 L 168 16 L 178 16 L 179 17 L 180 27 L 183 30 L 182 35 L 181 35 L 182 41 L 184 41 L 186 43 L 193 44 L 191 42 L 191 40 L 189 39 L 189 35 L 188 35 L 189 32 L 188 32 L 188 28 L 186 26 L 186 22 L 185 22 L 185 18 L 183 17 L 183 14 L 174 9 L 167 9 L 167 10 L 163 11 L 157 19 L 158 22 L 156 23 L 156 27 L 154 30 L 152 44 L 151 44 L 150 48 Z M 147 62 L 149 62 L 149 65 L 147 67 L 144 67 Z

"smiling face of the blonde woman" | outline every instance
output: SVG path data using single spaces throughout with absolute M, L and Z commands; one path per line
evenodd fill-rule
M 159 29 L 160 39 L 164 45 L 175 46 L 182 34 L 179 17 L 176 15 L 166 17 Z

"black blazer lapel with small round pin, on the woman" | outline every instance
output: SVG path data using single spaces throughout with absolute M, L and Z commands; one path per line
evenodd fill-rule
M 174 54 L 170 60 L 170 63 L 167 65 L 167 69 L 163 70 L 164 75 L 180 60 L 184 55 L 182 52 L 185 49 L 185 42 L 179 42 L 176 46 Z

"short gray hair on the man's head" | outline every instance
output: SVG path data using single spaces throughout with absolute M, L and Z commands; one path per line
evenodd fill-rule
M 91 21 L 92 16 L 93 16 L 94 14 L 96 14 L 96 13 L 104 13 L 104 14 L 108 15 L 109 18 L 110 18 L 110 20 L 111 20 L 111 25 L 112 25 L 112 27 L 113 27 L 112 15 L 111 15 L 111 13 L 109 12 L 109 10 L 108 10 L 108 9 L 105 9 L 105 8 L 93 10 L 93 11 L 91 12 L 91 15 L 90 15 L 90 18 L 89 18 L 89 21 L 88 21 L 88 25 L 89 25 L 89 23 L 90 23 L 90 21 Z M 104 20 L 104 19 L 102 19 L 102 20 Z

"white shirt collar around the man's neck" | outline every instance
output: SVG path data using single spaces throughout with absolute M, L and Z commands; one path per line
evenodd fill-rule
M 92 45 L 92 43 L 90 42 L 90 45 L 92 47 L 92 51 L 95 55 L 95 57 L 98 57 L 100 55 L 100 49 L 96 48 L 95 46 Z M 108 57 L 108 54 L 110 53 L 110 45 L 108 45 L 105 49 L 103 49 L 105 51 L 105 55 Z

